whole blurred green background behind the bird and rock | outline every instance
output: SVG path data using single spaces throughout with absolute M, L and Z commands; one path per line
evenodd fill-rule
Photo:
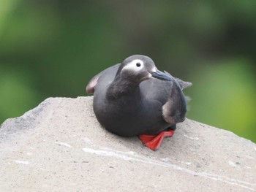
M 0 123 L 86 96 L 133 54 L 193 82 L 188 118 L 256 142 L 256 1 L 0 1 Z

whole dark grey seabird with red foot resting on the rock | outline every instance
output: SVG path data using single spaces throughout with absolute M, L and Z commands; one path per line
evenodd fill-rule
M 99 123 L 124 137 L 139 136 L 151 150 L 174 134 L 184 121 L 187 101 L 182 90 L 192 85 L 160 72 L 144 55 L 132 55 L 94 76 L 86 87 L 94 93 Z

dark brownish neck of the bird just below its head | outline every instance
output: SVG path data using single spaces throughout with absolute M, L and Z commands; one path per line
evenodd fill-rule
M 107 98 L 110 100 L 121 99 L 122 97 L 132 99 L 133 96 L 135 96 L 136 100 L 140 100 L 140 87 L 137 82 L 131 82 L 116 76 L 108 87 Z

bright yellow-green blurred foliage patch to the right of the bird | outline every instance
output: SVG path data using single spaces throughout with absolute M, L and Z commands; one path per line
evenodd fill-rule
M 255 138 L 256 89 L 252 70 L 241 59 L 214 62 L 191 77 L 194 88 L 189 118 Z M 231 67 L 230 67 L 231 66 Z

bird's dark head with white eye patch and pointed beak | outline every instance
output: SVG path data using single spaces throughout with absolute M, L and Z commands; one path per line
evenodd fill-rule
M 132 55 L 129 58 L 124 59 L 117 74 L 120 75 L 121 78 L 137 83 L 152 78 L 172 80 L 170 75 L 157 69 L 151 58 L 144 55 Z

